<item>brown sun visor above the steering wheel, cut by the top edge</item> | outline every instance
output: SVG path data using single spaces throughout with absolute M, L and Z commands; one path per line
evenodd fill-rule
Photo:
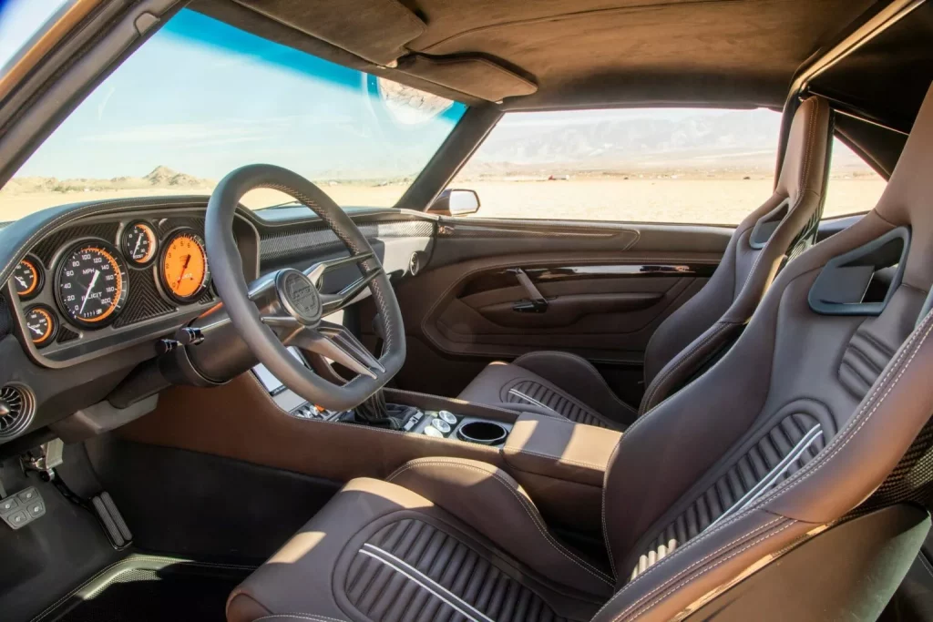
M 387 65 L 407 53 L 405 45 L 425 32 L 397 0 L 236 0 L 267 18 L 345 49 L 369 62 Z M 340 7 L 339 10 L 335 10 Z

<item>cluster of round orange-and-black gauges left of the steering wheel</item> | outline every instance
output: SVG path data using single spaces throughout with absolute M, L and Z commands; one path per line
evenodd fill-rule
M 48 266 L 35 254 L 22 259 L 10 286 L 23 302 L 24 332 L 35 347 L 54 343 L 64 329 L 73 334 L 113 324 L 140 275 L 151 278 L 157 292 L 145 283 L 140 295 L 160 296 L 170 308 L 201 300 L 211 279 L 201 235 L 188 227 L 160 230 L 132 220 L 118 228 L 116 240 L 89 236 L 64 242 Z M 139 273 L 136 279 L 131 271 Z

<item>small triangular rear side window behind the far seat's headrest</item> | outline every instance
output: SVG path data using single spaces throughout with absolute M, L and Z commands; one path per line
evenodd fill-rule
M 838 138 L 832 145 L 823 217 L 863 214 L 881 198 L 887 182 Z

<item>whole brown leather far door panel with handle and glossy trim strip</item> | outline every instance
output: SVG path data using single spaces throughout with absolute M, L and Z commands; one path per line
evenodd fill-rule
M 397 384 L 455 395 L 491 361 L 557 349 L 590 359 L 610 386 L 635 385 L 648 339 L 703 287 L 731 233 L 441 218 L 423 270 L 397 283 L 409 341 Z M 529 309 L 533 296 L 516 269 L 547 301 L 546 311 Z M 372 313 L 370 305 L 361 316 L 364 331 Z M 638 393 L 620 391 L 630 400 Z

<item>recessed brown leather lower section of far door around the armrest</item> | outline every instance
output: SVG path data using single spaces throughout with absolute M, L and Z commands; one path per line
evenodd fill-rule
M 448 353 L 514 357 L 557 348 L 595 361 L 640 365 L 641 352 L 659 318 L 696 293 L 715 264 L 678 265 L 652 272 L 619 258 L 578 266 L 551 264 L 542 269 L 523 263 L 515 267 L 532 278 L 547 301 L 544 311 L 515 311 L 527 301 L 517 282 L 476 291 L 477 283 L 492 282 L 502 273 L 480 270 L 439 301 L 425 318 L 425 336 Z M 559 281 L 547 278 L 578 268 L 597 274 L 619 273 L 610 277 L 582 274 Z

